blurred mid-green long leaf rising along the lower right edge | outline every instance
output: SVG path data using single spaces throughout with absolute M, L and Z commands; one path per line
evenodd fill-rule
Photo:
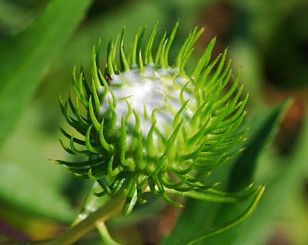
M 259 206 L 246 222 L 238 225 L 224 233 L 224 235 L 211 237 L 207 244 L 266 244 L 266 239 L 270 235 L 270 226 L 279 212 L 283 211 L 283 204 L 292 198 L 292 194 L 301 184 L 301 177 L 305 175 L 307 168 L 307 135 L 308 120 L 306 118 L 305 127 L 301 137 L 296 142 L 294 153 L 287 159 L 279 159 L 279 172 L 272 179 L 266 188 L 264 196 L 261 198 Z M 277 164 L 278 164 L 277 163 Z M 241 205 L 231 206 L 224 210 L 220 209 L 217 222 L 227 220 L 233 212 L 238 212 Z M 290 207 L 288 207 L 290 208 Z

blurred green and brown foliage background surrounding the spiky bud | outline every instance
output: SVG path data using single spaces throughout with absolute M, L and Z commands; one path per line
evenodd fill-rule
M 217 35 L 214 53 L 229 47 L 233 70 L 242 68 L 241 82 L 251 94 L 248 122 L 294 99 L 256 159 L 255 179 L 269 188 L 255 216 L 208 243 L 308 244 L 307 16 L 305 0 L 0 0 L 0 242 L 59 233 L 77 216 L 92 185 L 47 160 L 70 158 L 57 141 L 58 125 L 70 130 L 58 94 L 68 93 L 73 66 L 89 71 L 92 46 L 102 38 L 105 48 L 124 24 L 129 43 L 140 25 L 151 29 L 159 21 L 162 34 L 179 18 L 173 57 L 194 26 L 206 29 L 192 64 Z M 207 228 L 213 212 L 206 216 L 205 210 L 218 210 L 189 202 L 185 212 L 198 218 L 188 220 L 184 211 L 148 198 L 146 207 L 110 221 L 118 240 L 156 244 L 174 227 L 174 237 Z M 77 242 L 100 243 L 97 231 Z

